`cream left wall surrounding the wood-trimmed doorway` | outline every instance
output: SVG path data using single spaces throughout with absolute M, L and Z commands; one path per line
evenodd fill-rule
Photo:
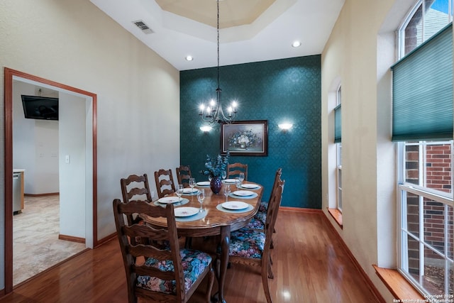
M 97 95 L 96 228 L 99 239 L 109 236 L 115 231 L 112 200 L 121 197 L 121 177 L 144 172 L 153 176 L 160 167 L 179 165 L 179 72 L 89 0 L 0 1 L 0 41 L 0 67 Z M 0 96 L 4 97 L 3 85 Z M 3 106 L 0 102 L 1 113 Z M 4 141 L 3 129 L 0 138 Z M 1 162 L 0 184 L 4 177 Z M 1 272 L 4 247 L 1 232 Z

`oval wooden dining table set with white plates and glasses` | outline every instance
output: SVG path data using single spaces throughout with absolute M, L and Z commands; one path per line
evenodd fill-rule
M 223 194 L 225 187 L 231 188 L 231 194 Z M 196 192 L 204 189 L 205 199 L 199 204 Z M 208 181 L 196 182 L 194 189 L 185 189 L 182 199 L 175 198 L 175 194 L 157 199 L 153 203 L 165 206 L 173 203 L 175 206 L 175 221 L 178 236 L 188 238 L 220 236 L 220 266 L 218 276 L 218 293 L 214 296 L 218 302 L 226 302 L 224 298 L 224 284 L 228 268 L 228 251 L 231 231 L 246 226 L 257 214 L 262 199 L 263 187 L 254 182 L 244 181 L 239 187 L 234 180 L 223 180 L 221 192 L 214 194 Z M 179 202 L 175 202 L 178 199 Z M 226 201 L 228 200 L 228 201 Z M 200 211 L 201 209 L 201 211 Z M 152 226 L 166 226 L 165 218 L 151 218 L 143 216 L 146 224 Z

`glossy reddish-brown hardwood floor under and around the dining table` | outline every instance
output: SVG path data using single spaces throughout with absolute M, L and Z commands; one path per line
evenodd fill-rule
M 279 210 L 272 251 L 275 279 L 270 280 L 273 302 L 380 302 L 323 216 Z M 211 248 L 213 243 L 193 239 L 194 246 Z M 232 265 L 226 277 L 226 301 L 266 302 L 260 268 Z M 0 302 L 127 302 L 117 239 L 51 268 Z M 190 302 L 201 301 L 195 296 Z

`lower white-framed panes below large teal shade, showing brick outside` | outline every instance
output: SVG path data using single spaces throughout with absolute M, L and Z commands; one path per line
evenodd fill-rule
M 402 144 L 400 270 L 426 294 L 453 294 L 453 141 Z

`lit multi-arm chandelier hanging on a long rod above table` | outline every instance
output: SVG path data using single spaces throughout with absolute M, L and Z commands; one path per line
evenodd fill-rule
M 233 101 L 227 108 L 227 113 L 224 113 L 221 104 L 221 88 L 219 87 L 219 0 L 216 0 L 218 5 L 218 20 L 217 20 L 217 33 L 218 33 L 218 88 L 216 89 L 216 101 L 211 99 L 209 104 L 201 104 L 199 116 L 204 123 L 210 126 L 215 123 L 232 123 L 235 120 L 238 104 Z

